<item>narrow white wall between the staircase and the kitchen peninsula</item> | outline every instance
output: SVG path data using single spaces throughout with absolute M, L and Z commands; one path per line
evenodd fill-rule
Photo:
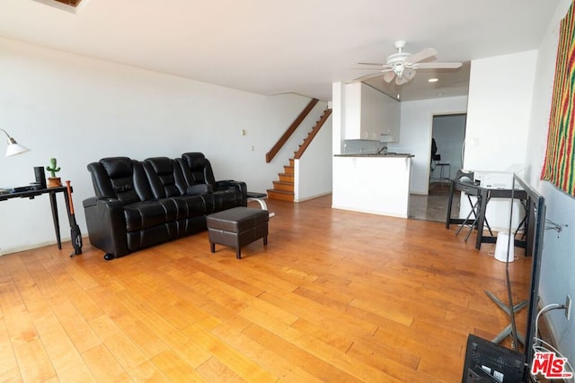
M 295 161 L 294 201 L 332 193 L 332 117 L 328 118 L 304 155 Z

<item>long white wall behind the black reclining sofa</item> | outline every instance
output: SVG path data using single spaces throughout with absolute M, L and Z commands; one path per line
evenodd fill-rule
M 286 154 L 266 164 L 265 153 L 309 102 L 299 95 L 265 97 L 11 39 L 0 38 L 0 52 L 0 126 L 31 149 L 0 157 L 0 187 L 28 185 L 33 167 L 56 157 L 62 167 L 58 175 L 75 188 L 84 235 L 82 201 L 93 196 L 89 162 L 198 151 L 212 162 L 217 179 L 243 180 L 250 190 L 265 191 L 288 161 Z M 59 202 L 62 235 L 69 238 L 63 199 Z M 55 243 L 46 196 L 4 201 L 0 209 L 0 254 Z

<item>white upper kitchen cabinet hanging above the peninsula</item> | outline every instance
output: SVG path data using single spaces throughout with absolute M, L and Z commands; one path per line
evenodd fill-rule
M 345 139 L 399 141 L 400 103 L 365 83 L 345 85 Z

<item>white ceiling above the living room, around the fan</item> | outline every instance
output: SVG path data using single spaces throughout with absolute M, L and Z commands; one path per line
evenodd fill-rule
M 535 49 L 559 0 L 84 0 L 67 13 L 32 0 L 0 1 L 0 36 L 261 94 L 332 99 L 332 83 L 405 51 L 436 48 L 438 61 Z M 2 52 L 0 52 L 0 57 Z M 402 100 L 466 94 L 429 87 L 418 71 Z M 430 75 L 430 74 L 429 74 Z M 422 85 L 418 86 L 417 82 Z M 369 82 L 381 89 L 383 81 Z M 410 91 L 411 90 L 411 91 Z M 397 90 L 387 90 L 394 94 Z

